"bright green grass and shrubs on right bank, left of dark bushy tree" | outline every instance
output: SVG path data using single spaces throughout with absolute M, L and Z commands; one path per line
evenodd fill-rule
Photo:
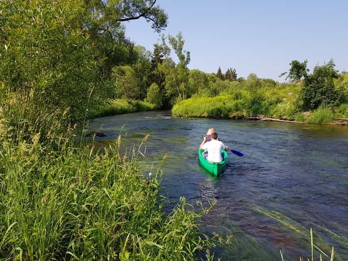
M 257 82 L 257 84 L 255 84 Z M 254 83 L 254 85 L 252 85 Z M 251 75 L 248 80 L 238 82 L 217 79 L 214 85 L 223 84 L 220 94 L 209 98 L 194 96 L 176 104 L 172 113 L 190 117 L 230 117 L 263 116 L 294 119 L 296 100 L 300 86 L 277 85 L 268 79 L 257 79 Z M 216 114 L 214 114 L 216 113 Z

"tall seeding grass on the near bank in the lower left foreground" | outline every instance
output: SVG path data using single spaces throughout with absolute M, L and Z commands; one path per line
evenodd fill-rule
M 209 247 L 196 219 L 213 205 L 195 213 L 181 198 L 165 214 L 161 171 L 141 172 L 141 146 L 121 155 L 121 137 L 99 151 L 32 140 L 0 143 L 0 259 L 193 260 Z

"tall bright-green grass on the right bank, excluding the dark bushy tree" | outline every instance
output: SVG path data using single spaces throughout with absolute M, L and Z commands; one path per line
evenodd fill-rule
M 299 111 L 298 88 L 237 89 L 215 97 L 194 97 L 175 104 L 172 114 L 237 119 L 257 116 L 318 124 L 332 122 L 334 117 L 348 117 L 348 104 L 341 104 L 336 109 L 319 107 L 313 112 Z

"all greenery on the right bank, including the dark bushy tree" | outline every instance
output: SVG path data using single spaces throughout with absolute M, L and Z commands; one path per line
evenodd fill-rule
M 310 123 L 348 117 L 348 73 L 339 74 L 333 60 L 316 66 L 312 74 L 308 74 L 307 61 L 293 61 L 290 65 L 290 83 L 261 79 L 255 74 L 237 80 L 222 80 L 221 74 L 222 79 L 216 79 L 219 68 L 216 77 L 212 76 L 214 83 L 201 80 L 206 83 L 201 84 L 204 88 L 197 88 L 199 91 L 191 99 L 174 105 L 172 113 L 185 117 L 270 117 Z M 204 73 L 201 75 L 204 78 Z

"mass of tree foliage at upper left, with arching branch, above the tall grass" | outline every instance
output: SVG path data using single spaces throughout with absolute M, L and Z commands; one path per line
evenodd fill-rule
M 0 1 L 1 117 L 30 137 L 64 131 L 107 98 L 144 99 L 150 54 L 121 23 L 145 18 L 163 29 L 167 16 L 155 2 Z

